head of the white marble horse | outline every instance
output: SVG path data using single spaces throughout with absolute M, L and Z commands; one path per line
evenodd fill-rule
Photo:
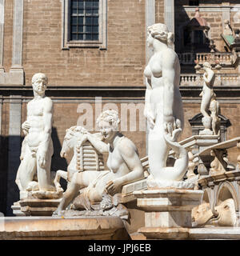
M 66 129 L 66 135 L 60 152 L 61 158 L 67 158 L 74 153 L 76 142 L 85 132 L 86 129 L 82 126 L 72 126 L 70 129 Z

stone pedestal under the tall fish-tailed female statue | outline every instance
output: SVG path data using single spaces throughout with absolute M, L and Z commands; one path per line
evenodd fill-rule
M 202 190 L 158 189 L 135 191 L 137 206 L 145 211 L 147 239 L 185 239 L 192 226 L 191 210 L 202 201 Z

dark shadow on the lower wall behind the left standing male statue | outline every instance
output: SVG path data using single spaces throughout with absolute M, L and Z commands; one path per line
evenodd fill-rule
M 67 163 L 60 157 L 62 149 L 55 127 L 52 128 L 54 143 L 54 155 L 51 162 L 51 171 L 66 170 Z M 6 216 L 13 216 L 11 206 L 19 200 L 19 190 L 15 183 L 23 137 L 8 136 L 0 137 L 0 212 Z M 61 185 L 66 190 L 66 182 L 61 180 Z

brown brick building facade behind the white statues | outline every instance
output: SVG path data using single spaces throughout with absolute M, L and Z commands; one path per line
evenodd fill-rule
M 200 113 L 203 70 L 194 66 L 204 60 L 214 69 L 221 66 L 214 92 L 231 124 L 224 136 L 239 136 L 240 63 L 238 49 L 222 37 L 226 20 L 236 37 L 237 0 L 0 0 L 0 211 L 11 215 L 18 201 L 21 125 L 35 73 L 47 75 L 46 95 L 54 102 L 51 170 L 66 170 L 59 155 L 66 129 L 84 125 L 94 131 L 95 118 L 108 108 L 118 110 L 122 133 L 146 156 L 143 70 L 151 54 L 146 27 L 154 22 L 166 23 L 175 34 L 185 111 L 181 138 L 192 135 L 189 120 Z M 234 162 L 237 154 L 231 153 Z

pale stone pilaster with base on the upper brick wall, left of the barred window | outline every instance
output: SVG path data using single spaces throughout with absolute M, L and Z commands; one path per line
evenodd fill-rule
M 23 30 L 23 0 L 14 0 L 13 56 L 10 68 L 13 84 L 22 84 L 22 30 Z

